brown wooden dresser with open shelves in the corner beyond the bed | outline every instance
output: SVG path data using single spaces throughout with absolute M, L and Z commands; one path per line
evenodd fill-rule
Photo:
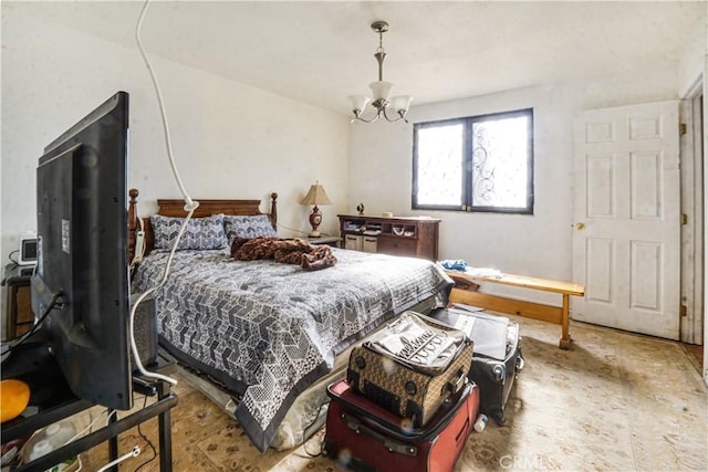
M 342 248 L 436 261 L 440 220 L 425 217 L 337 214 Z

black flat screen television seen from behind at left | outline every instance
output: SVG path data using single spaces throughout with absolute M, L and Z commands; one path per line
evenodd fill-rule
M 44 148 L 37 168 L 35 316 L 74 395 L 133 406 L 127 238 L 128 94 Z M 59 304 L 51 306 L 59 295 Z

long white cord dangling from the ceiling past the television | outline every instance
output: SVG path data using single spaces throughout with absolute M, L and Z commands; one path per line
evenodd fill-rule
M 150 6 L 150 0 L 146 0 L 145 3 L 143 4 L 143 10 L 140 11 L 140 15 L 138 18 L 137 24 L 135 27 L 135 40 L 137 42 L 137 48 L 140 51 L 140 55 L 143 56 L 143 61 L 145 62 L 145 66 L 147 67 L 147 71 L 149 72 L 150 75 L 150 80 L 153 81 L 153 87 L 155 88 L 155 94 L 157 96 L 157 103 L 159 105 L 159 112 L 160 112 L 160 119 L 163 123 L 163 132 L 164 132 L 164 137 L 165 137 L 165 145 L 167 147 L 167 158 L 169 160 L 169 165 L 171 167 L 173 170 L 173 175 L 175 177 L 175 181 L 177 182 L 177 186 L 179 187 L 179 190 L 181 191 L 181 195 L 185 199 L 185 211 L 187 211 L 187 217 L 185 218 L 181 228 L 179 229 L 179 233 L 177 233 L 177 238 L 175 240 L 175 243 L 173 244 L 173 249 L 169 252 L 169 258 L 167 259 L 167 263 L 165 264 L 165 270 L 163 272 L 163 277 L 162 280 L 158 282 L 157 285 L 148 289 L 146 292 L 144 292 L 140 296 L 138 296 L 138 298 L 135 301 L 135 303 L 133 304 L 133 307 L 131 310 L 131 318 L 129 318 L 129 333 L 131 333 L 131 348 L 133 350 L 133 357 L 135 359 L 135 366 L 137 367 L 137 369 L 140 371 L 140 374 L 143 374 L 145 377 L 150 377 L 150 378 L 156 378 L 156 379 L 160 379 L 160 380 L 165 380 L 168 381 L 169 384 L 177 385 L 177 380 L 175 380 L 171 377 L 158 374 L 158 373 L 150 373 L 147 371 L 145 369 L 145 367 L 143 366 L 143 363 L 140 361 L 140 356 L 138 354 L 138 349 L 137 349 L 137 345 L 135 344 L 135 335 L 134 335 L 134 321 L 135 321 L 135 312 L 137 311 L 137 307 L 139 306 L 140 303 L 143 303 L 143 301 L 152 293 L 156 292 L 157 290 L 159 290 L 165 282 L 167 282 L 167 277 L 169 275 L 169 271 L 171 269 L 171 263 L 173 263 L 173 259 L 175 256 L 175 251 L 177 250 L 177 247 L 179 244 L 179 241 L 181 240 L 181 235 L 184 234 L 185 230 L 187 229 L 187 224 L 189 223 L 189 220 L 191 219 L 195 210 L 199 207 L 199 202 L 198 201 L 194 201 L 190 197 L 189 193 L 187 192 L 187 189 L 185 188 L 181 178 L 179 177 L 179 171 L 177 170 L 177 165 L 175 164 L 175 157 L 174 157 L 174 153 L 173 153 L 173 145 L 171 145 L 171 137 L 169 134 L 169 125 L 167 123 L 167 111 L 165 109 L 165 101 L 163 99 L 163 93 L 160 91 L 159 87 L 159 83 L 157 81 L 157 75 L 155 74 L 155 71 L 153 70 L 153 65 L 150 64 L 149 57 L 147 56 L 147 53 L 145 52 L 145 49 L 143 48 L 143 42 L 140 41 L 140 31 L 143 29 L 143 21 L 145 20 L 145 14 L 147 13 L 147 9 Z

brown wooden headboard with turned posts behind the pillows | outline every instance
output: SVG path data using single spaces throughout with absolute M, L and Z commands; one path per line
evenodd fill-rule
M 139 217 L 137 214 L 137 196 L 139 191 L 137 189 L 131 189 L 128 191 L 129 206 L 128 206 L 128 256 L 131 261 L 135 255 L 135 231 L 140 227 Z M 273 223 L 273 228 L 278 229 L 278 193 L 272 192 L 270 195 L 270 213 L 263 213 L 260 211 L 260 200 L 226 200 L 226 199 L 196 199 L 199 202 L 192 214 L 192 218 L 210 217 L 211 214 L 268 214 L 270 221 Z M 186 217 L 185 200 L 184 199 L 158 199 L 157 206 L 159 210 L 157 214 L 165 217 Z M 143 224 L 145 227 L 145 255 L 149 254 L 153 250 L 154 237 L 153 229 L 150 227 L 150 219 L 143 218 Z

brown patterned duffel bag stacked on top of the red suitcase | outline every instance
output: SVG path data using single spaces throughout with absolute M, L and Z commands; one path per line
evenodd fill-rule
M 346 378 L 355 392 L 419 428 L 468 381 L 472 350 L 464 332 L 405 312 L 352 350 Z

